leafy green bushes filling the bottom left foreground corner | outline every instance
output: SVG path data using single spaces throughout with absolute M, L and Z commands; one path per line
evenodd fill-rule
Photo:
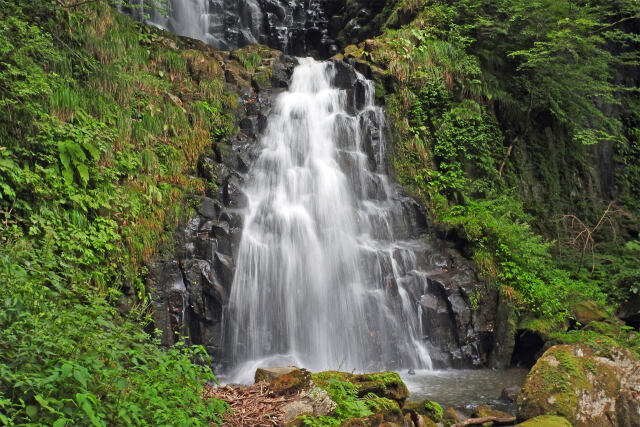
M 208 425 L 225 404 L 202 400 L 214 381 L 203 348 L 165 351 L 104 298 L 88 272 L 59 266 L 51 246 L 15 228 L 0 258 L 0 413 L 4 425 Z M 26 266 L 26 268 L 25 268 Z

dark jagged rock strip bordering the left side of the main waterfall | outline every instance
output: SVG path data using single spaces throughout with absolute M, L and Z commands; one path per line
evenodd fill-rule
M 295 66 L 282 56 L 275 62 L 277 77 L 287 82 Z M 275 80 L 275 75 L 274 75 Z M 240 97 L 238 132 L 233 138 L 213 142 L 202 155 L 197 171 L 211 183 L 206 197 L 194 200 L 197 216 L 178 232 L 176 260 L 149 265 L 146 279 L 152 294 L 154 324 L 162 331 L 162 343 L 173 345 L 180 337 L 204 345 L 219 360 L 222 354 L 222 314 L 234 275 L 234 255 L 242 232 L 244 174 L 253 160 L 256 139 L 264 131 L 273 98 L 282 89 L 245 88 Z M 251 123 L 247 129 L 245 124 Z

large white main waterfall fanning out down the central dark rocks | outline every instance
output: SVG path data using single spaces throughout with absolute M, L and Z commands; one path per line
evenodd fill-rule
M 372 82 L 357 74 L 360 91 L 339 89 L 338 73 L 300 60 L 247 177 L 224 315 L 237 372 L 431 367 L 419 301 L 405 289 L 424 288 L 426 244 L 409 240 L 417 226 L 386 176 Z

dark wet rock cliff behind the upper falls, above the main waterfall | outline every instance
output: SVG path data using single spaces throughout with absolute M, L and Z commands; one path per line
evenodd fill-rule
M 328 58 L 378 32 L 388 0 L 164 0 L 163 13 L 119 9 L 172 33 L 222 50 L 260 43 L 296 56 Z M 386 12 L 386 13 L 383 13 Z M 233 83 L 233 81 L 229 81 Z

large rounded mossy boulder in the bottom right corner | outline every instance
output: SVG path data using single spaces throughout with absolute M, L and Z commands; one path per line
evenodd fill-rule
M 633 352 L 557 345 L 529 373 L 518 396 L 518 417 L 560 415 L 577 427 L 616 426 L 619 416 L 640 411 L 640 401 L 625 398 L 638 391 L 640 363 Z

